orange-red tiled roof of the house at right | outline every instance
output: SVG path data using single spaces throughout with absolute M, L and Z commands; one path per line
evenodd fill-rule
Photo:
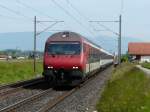
M 129 43 L 128 53 L 130 55 L 150 55 L 150 42 Z

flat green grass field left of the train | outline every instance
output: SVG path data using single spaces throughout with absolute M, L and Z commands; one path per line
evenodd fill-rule
M 42 73 L 42 62 L 36 63 L 36 74 Z M 33 61 L 0 61 L 0 84 L 8 84 L 36 77 L 33 72 Z

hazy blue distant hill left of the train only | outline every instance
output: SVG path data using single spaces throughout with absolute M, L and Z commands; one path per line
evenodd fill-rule
M 37 37 L 37 50 L 44 50 L 44 43 L 50 35 L 43 33 Z M 33 36 L 32 32 L 0 33 L 0 50 L 33 50 Z

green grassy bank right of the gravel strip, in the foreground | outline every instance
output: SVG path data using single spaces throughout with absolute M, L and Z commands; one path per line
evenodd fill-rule
M 96 108 L 98 112 L 150 112 L 150 78 L 132 64 L 113 70 Z

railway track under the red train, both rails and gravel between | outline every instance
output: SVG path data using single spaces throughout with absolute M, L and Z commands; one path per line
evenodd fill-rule
M 79 90 L 81 87 L 84 87 L 89 81 L 93 80 L 97 75 L 93 75 L 92 77 L 89 77 L 83 84 L 69 90 L 69 91 L 61 91 L 58 92 L 56 90 L 53 90 L 52 88 L 49 88 L 45 91 L 42 91 L 40 93 L 37 93 L 35 95 L 32 95 L 28 98 L 25 98 L 19 102 L 16 102 L 15 104 L 9 105 L 3 109 L 0 110 L 0 112 L 16 112 L 16 111 L 21 111 L 21 112 L 28 112 L 28 111 L 33 111 L 30 108 L 33 108 L 34 105 L 31 104 L 40 104 L 42 105 L 39 107 L 39 109 L 36 110 L 36 112 L 47 112 L 48 110 L 52 109 L 54 106 L 59 104 L 61 101 L 63 101 L 65 98 Z M 54 96 L 53 98 L 50 98 L 51 96 Z M 43 98 L 42 98 L 43 97 Z M 49 99 L 48 101 L 44 101 L 45 99 Z M 40 100 L 39 100 L 40 99 Z M 44 104 L 43 104 L 44 102 Z M 35 110 L 34 110 L 35 111 Z

